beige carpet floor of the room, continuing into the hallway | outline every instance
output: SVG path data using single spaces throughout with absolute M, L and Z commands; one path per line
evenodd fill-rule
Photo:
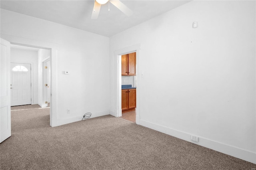
M 1 170 L 251 170 L 256 164 L 110 115 L 50 127 L 49 108 L 12 111 Z

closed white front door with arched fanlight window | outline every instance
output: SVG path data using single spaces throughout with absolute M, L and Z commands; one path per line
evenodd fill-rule
M 31 64 L 11 63 L 11 106 L 31 104 Z

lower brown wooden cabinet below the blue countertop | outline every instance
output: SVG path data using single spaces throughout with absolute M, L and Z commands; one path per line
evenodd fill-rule
M 136 107 L 136 89 L 122 90 L 122 111 Z

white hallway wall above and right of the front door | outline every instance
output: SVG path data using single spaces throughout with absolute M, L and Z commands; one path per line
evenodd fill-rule
M 31 63 L 33 75 L 32 104 L 38 104 L 38 58 L 37 51 L 11 47 L 11 63 Z

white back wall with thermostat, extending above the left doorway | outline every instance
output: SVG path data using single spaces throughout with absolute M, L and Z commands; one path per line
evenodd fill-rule
M 109 38 L 3 9 L 1 38 L 52 48 L 52 126 L 109 114 Z

